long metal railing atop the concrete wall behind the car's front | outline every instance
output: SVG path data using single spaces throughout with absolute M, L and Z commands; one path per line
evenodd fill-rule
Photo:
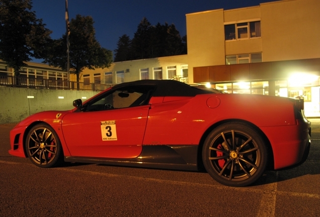
M 0 76 L 0 85 L 12 87 L 28 87 L 36 89 L 71 89 L 102 91 L 111 84 L 84 83 L 67 80 L 39 79 L 14 76 Z

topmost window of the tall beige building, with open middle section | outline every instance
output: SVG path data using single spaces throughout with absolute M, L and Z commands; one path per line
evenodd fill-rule
M 260 21 L 224 25 L 225 40 L 261 37 Z

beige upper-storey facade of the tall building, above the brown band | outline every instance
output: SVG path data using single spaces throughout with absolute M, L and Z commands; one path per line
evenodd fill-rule
M 187 14 L 189 68 L 320 58 L 319 11 L 318 0 L 282 0 Z

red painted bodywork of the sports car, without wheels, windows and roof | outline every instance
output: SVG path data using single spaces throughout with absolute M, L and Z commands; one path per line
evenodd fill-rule
M 104 92 L 109 90 L 112 88 Z M 278 96 L 208 93 L 156 95 L 145 105 L 108 111 L 42 112 L 11 131 L 9 153 L 26 157 L 24 140 L 39 122 L 55 130 L 64 156 L 131 159 L 141 154 L 143 146 L 200 145 L 206 132 L 215 126 L 241 121 L 265 136 L 272 148 L 274 168 L 279 169 L 299 163 L 309 139 L 310 122 L 303 114 L 298 119 L 294 106 L 291 99 Z M 110 133 L 105 123 L 116 127 L 112 130 L 116 129 L 116 137 L 104 140 L 104 134 Z

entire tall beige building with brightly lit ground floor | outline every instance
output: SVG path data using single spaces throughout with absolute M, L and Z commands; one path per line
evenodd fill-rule
M 189 82 L 304 97 L 319 115 L 320 1 L 282 0 L 187 14 Z

